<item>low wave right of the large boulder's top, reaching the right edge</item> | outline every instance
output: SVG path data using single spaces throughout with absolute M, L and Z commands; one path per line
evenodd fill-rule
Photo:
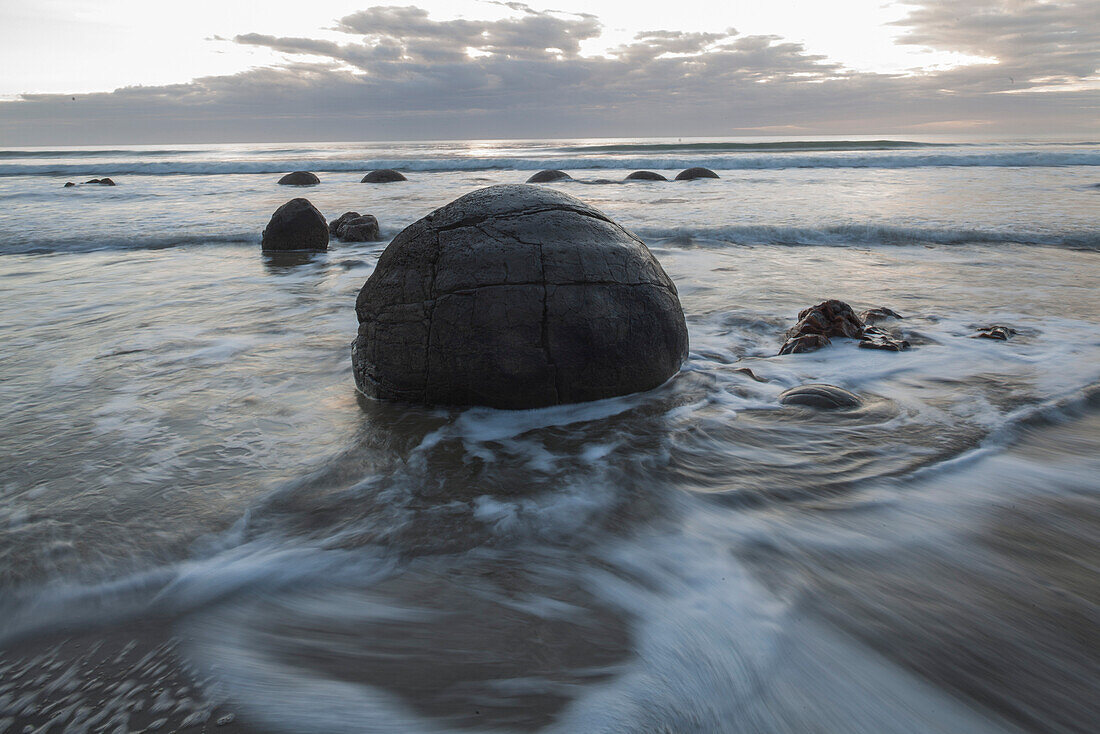
M 890 224 L 836 224 L 832 227 L 774 227 L 734 224 L 719 227 L 636 228 L 650 244 L 696 240 L 732 244 L 787 245 L 906 245 L 906 244 L 1030 244 L 1074 250 L 1100 250 L 1100 230 L 1021 232 L 979 229 L 935 229 Z M 678 242 L 678 240 L 680 242 Z

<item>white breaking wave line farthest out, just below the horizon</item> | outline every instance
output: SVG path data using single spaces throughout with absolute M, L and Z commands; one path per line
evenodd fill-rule
M 678 171 L 705 165 L 718 171 L 780 168 L 921 168 L 956 166 L 1036 167 L 1100 166 L 1100 150 L 1092 151 L 997 151 L 981 153 L 821 153 L 821 154 L 700 154 L 684 156 L 591 156 L 591 157 L 392 157 L 344 160 L 287 157 L 239 161 L 117 161 L 95 167 L 87 163 L 2 163 L 0 176 L 122 176 L 122 175 L 213 175 L 277 174 L 288 171 L 318 173 L 363 173 L 375 168 L 406 172 L 462 171 L 564 171 L 638 168 Z

